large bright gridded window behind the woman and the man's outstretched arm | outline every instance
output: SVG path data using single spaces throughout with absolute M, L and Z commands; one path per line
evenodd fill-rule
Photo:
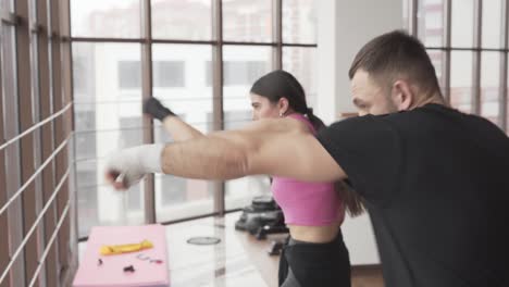
M 72 0 L 80 236 L 97 224 L 221 214 L 270 192 L 266 176 L 215 183 L 156 175 L 117 194 L 104 185 L 100 172 L 114 149 L 173 140 L 159 122 L 141 115 L 141 102 L 149 97 L 202 133 L 239 128 L 251 121 L 253 82 L 285 68 L 302 83 L 312 105 L 315 4 Z M 146 204 L 151 200 L 153 204 Z

